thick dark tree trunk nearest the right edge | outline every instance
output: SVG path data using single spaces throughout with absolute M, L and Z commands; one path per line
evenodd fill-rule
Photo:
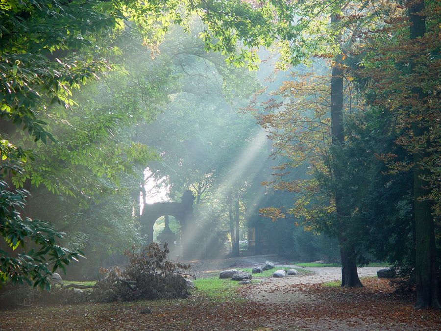
M 426 18 L 424 0 L 412 3 L 409 7 L 410 39 L 417 40 L 426 33 Z M 415 70 L 415 62 L 411 60 L 411 72 Z M 412 74 L 412 73 L 411 73 Z M 424 103 L 426 95 L 420 87 L 412 87 L 412 94 L 421 103 Z M 414 122 L 412 125 L 414 138 L 423 138 L 426 146 L 422 151 L 414 152 L 414 208 L 415 208 L 415 237 L 416 237 L 416 289 L 417 307 L 440 308 L 439 288 L 437 276 L 437 257 L 435 246 L 435 227 L 432 215 L 432 206 L 429 200 L 422 199 L 430 194 L 428 183 L 422 179 L 430 175 L 430 171 L 421 165 L 422 160 L 428 156 L 430 146 L 430 131 L 424 123 Z

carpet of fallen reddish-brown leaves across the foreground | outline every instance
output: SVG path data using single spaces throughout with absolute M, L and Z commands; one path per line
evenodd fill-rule
M 33 307 L 2 313 L 2 330 L 437 330 L 441 313 L 413 307 L 413 294 L 394 294 L 388 280 L 366 279 L 364 288 L 293 285 L 311 303 L 270 305 L 236 296 L 196 295 L 181 300 Z M 229 289 L 226 290 L 227 292 Z M 146 307 L 151 313 L 142 313 Z

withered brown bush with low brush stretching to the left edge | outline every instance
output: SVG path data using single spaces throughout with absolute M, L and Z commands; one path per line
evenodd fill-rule
M 113 270 L 101 268 L 104 276 L 95 285 L 75 285 L 66 287 L 53 285 L 50 291 L 42 291 L 30 286 L 12 285 L 3 288 L 0 294 L 0 310 L 18 306 L 65 305 L 86 302 L 113 302 L 153 299 L 183 299 L 189 296 L 184 276 L 190 265 L 176 263 L 167 259 L 167 244 L 161 250 L 152 243 L 141 252 L 126 251 L 129 262 L 125 271 L 118 267 Z M 76 288 L 92 288 L 78 293 Z

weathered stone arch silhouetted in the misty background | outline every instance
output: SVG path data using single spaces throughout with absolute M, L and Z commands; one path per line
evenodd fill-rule
M 156 220 L 162 216 L 173 216 L 181 224 L 181 237 L 183 255 L 186 255 L 185 238 L 187 236 L 189 224 L 193 218 L 193 201 L 195 197 L 190 190 L 184 191 L 180 203 L 155 203 L 144 206 L 139 222 L 142 226 L 142 232 L 147 236 L 147 242 L 153 241 L 153 225 Z

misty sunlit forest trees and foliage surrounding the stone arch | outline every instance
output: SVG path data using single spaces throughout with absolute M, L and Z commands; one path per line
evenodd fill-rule
M 140 245 L 147 175 L 172 200 L 194 192 L 207 247 L 229 232 L 238 254 L 239 228 L 269 227 L 295 259 L 337 250 L 344 286 L 383 260 L 439 306 L 436 1 L 0 11 L 2 282 L 47 287 L 82 253 L 77 275 Z

